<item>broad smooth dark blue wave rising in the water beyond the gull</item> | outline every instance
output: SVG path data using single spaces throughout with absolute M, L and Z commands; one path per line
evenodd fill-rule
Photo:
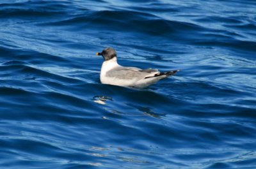
M 163 18 L 136 11 L 91 11 L 88 15 L 76 16 L 68 20 L 40 24 L 40 26 L 76 27 L 79 30 L 112 30 L 169 36 L 184 31 L 200 31 L 204 27 L 189 22 L 164 20 Z

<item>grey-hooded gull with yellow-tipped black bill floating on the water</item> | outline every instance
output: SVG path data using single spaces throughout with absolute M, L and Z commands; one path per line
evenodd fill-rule
M 145 88 L 179 71 L 160 72 L 152 68 L 142 70 L 140 68 L 121 66 L 117 62 L 115 49 L 110 47 L 104 48 L 102 52 L 97 52 L 96 55 L 102 55 L 104 58 L 100 70 L 100 82 L 102 84 Z

